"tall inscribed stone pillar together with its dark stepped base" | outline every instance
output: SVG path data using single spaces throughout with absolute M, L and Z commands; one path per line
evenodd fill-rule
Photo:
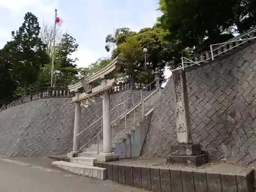
M 178 68 L 173 71 L 172 75 L 178 144 L 171 146 L 170 156 L 167 156 L 166 162 L 200 166 L 208 162 L 208 154 L 201 151 L 200 144 L 193 144 L 186 74 L 184 70 Z

